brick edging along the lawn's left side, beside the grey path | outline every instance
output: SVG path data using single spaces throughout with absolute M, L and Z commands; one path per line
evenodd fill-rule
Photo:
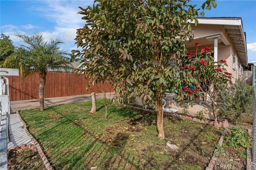
M 41 157 L 41 159 L 43 160 L 43 163 L 46 167 L 47 170 L 53 170 L 53 167 L 51 166 L 49 160 L 46 158 L 41 146 L 39 145 L 39 143 L 37 142 L 37 140 L 29 133 L 28 129 L 27 129 L 27 124 L 23 121 L 22 117 L 20 116 L 19 112 L 16 112 L 21 123 L 23 124 L 24 128 L 25 128 L 25 132 L 28 135 L 28 137 L 31 139 L 31 141 L 34 143 L 34 145 L 36 146 L 36 149 L 38 151 L 39 156 Z

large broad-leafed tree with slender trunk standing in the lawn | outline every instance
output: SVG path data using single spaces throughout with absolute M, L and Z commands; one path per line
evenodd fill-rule
M 206 1 L 202 9 L 215 7 Z M 158 137 L 164 139 L 162 97 L 167 89 L 179 92 L 178 101 L 193 96 L 181 84 L 196 80 L 181 69 L 187 55 L 185 42 L 192 38 L 191 22 L 197 24 L 200 8 L 190 1 L 95 1 L 79 7 L 86 24 L 77 30 L 76 44 L 83 50 L 85 72 L 110 74 L 118 101 L 141 97 L 157 111 Z M 203 11 L 201 15 L 203 15 Z M 109 77 L 109 76 L 107 76 Z M 113 79 L 114 78 L 114 79 Z M 178 88 L 177 88 L 178 87 Z

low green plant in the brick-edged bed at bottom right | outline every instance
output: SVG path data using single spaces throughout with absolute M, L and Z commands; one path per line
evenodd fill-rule
M 231 129 L 231 135 L 226 136 L 225 145 L 239 149 L 241 147 L 249 149 L 251 147 L 250 135 L 241 127 Z

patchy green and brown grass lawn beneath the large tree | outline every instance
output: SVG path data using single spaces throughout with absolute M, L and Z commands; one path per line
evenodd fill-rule
M 97 101 L 22 111 L 31 134 L 41 144 L 54 169 L 204 169 L 221 129 L 164 118 L 165 140 L 157 138 L 156 114 L 112 105 L 104 118 Z M 166 142 L 178 151 L 166 148 Z

